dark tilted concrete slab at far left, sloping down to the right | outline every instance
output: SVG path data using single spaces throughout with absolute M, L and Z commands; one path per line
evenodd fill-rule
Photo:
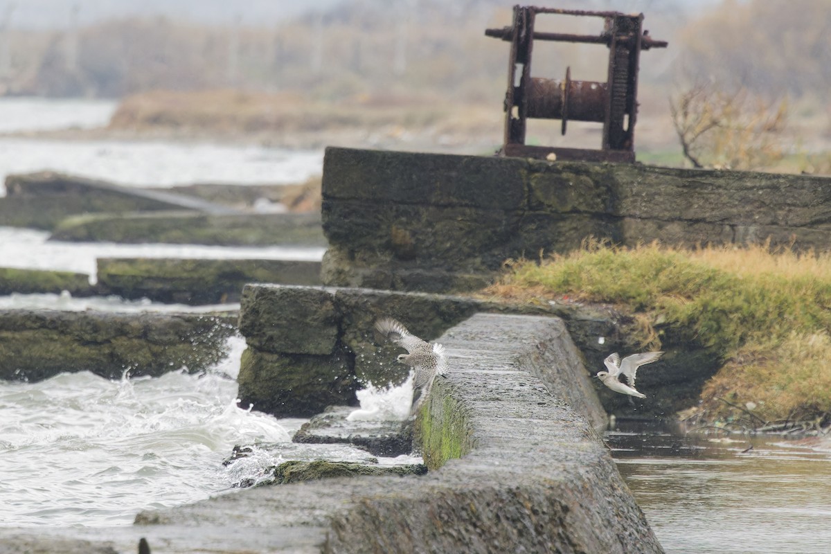
M 129 213 L 191 209 L 205 213 L 236 210 L 159 190 L 123 187 L 51 171 L 9 175 L 0 199 L 0 225 L 52 229 L 73 213 Z

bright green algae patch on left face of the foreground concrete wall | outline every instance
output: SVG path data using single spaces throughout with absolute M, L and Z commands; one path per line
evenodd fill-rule
M 416 444 L 420 444 L 430 470 L 451 458 L 461 458 L 473 448 L 470 418 L 450 394 L 450 385 L 436 382 L 433 386 L 430 402 L 421 408 L 416 421 Z

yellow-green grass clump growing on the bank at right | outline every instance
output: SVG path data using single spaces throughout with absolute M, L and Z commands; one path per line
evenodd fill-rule
M 753 406 L 765 421 L 831 413 L 831 365 L 824 362 L 831 359 L 828 255 L 593 242 L 540 262 L 512 263 L 487 292 L 613 303 L 647 322 L 644 343 L 660 346 L 649 323 L 661 321 L 681 340 L 710 347 L 725 360 L 701 394 L 712 414 L 728 414 L 724 400 Z

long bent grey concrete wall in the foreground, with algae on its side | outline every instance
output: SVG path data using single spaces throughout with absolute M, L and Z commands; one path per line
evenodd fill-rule
M 477 314 L 439 341 L 427 475 L 254 488 L 142 512 L 120 536 L 165 552 L 662 552 L 590 423 L 602 410 L 563 321 Z

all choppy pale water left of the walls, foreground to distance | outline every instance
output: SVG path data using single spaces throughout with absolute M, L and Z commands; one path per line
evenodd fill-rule
M 0 101 L 0 133 L 100 126 L 113 107 Z M 321 166 L 322 152 L 0 137 L 0 184 L 6 174 L 42 169 L 143 186 L 279 184 L 319 174 Z M 57 243 L 47 237 L 31 229 L 0 228 L 0 267 L 84 272 L 94 281 L 97 257 L 318 260 L 323 253 L 322 248 Z M 38 307 L 198 309 L 120 298 L 0 297 L 0 308 Z M 243 340 L 234 337 L 228 359 L 200 375 L 175 371 L 155 379 L 111 381 L 82 372 L 39 383 L 0 381 L 0 527 L 8 531 L 129 525 L 142 509 L 207 498 L 243 479 L 261 478 L 265 468 L 283 459 L 367 458 L 346 447 L 330 447 L 324 453 L 317 445 L 292 444 L 289 436 L 301 420 L 277 420 L 239 409 L 234 378 L 243 347 Z M 253 453 L 224 466 L 235 444 L 253 445 Z M 130 552 L 135 550 L 135 542 L 132 545 Z

